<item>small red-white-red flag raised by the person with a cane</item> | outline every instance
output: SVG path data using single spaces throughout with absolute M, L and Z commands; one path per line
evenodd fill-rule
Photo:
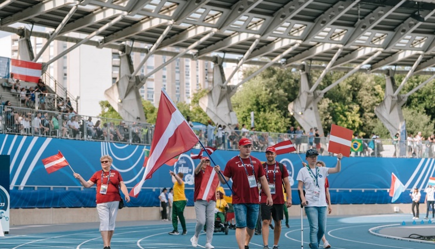
M 349 157 L 351 154 L 353 130 L 333 124 L 329 135 L 328 152 L 343 154 Z

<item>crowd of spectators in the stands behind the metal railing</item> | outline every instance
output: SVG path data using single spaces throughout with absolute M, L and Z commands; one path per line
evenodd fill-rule
M 20 81 L 13 78 L 13 74 L 3 87 L 10 87 L 12 93 L 19 94 L 20 101 L 28 108 L 12 106 L 10 101 L 0 106 L 0 132 L 31 136 L 54 136 L 69 139 L 86 139 L 97 141 L 110 141 L 120 143 L 149 144 L 151 143 L 154 126 L 147 123 L 128 122 L 123 120 L 100 119 L 94 123 L 93 117 L 78 115 L 71 106 L 68 97 L 57 97 L 55 109 L 48 110 L 47 86 L 40 80 L 37 87 L 28 89 L 20 86 Z M 35 107 L 35 95 L 39 93 L 38 110 Z M 53 100 L 53 99 L 51 99 Z M 50 101 L 50 100 L 48 100 Z M 54 112 L 57 111 L 57 112 Z M 190 117 L 188 123 L 193 127 Z M 207 146 L 218 149 L 238 149 L 238 141 L 248 138 L 252 141 L 254 151 L 264 151 L 268 146 L 284 140 L 291 140 L 297 153 L 305 153 L 308 149 L 316 149 L 320 154 L 328 154 L 327 146 L 329 135 L 323 137 L 317 128 L 308 132 L 300 126 L 290 126 L 286 133 L 257 132 L 255 127 L 248 129 L 245 124 L 237 124 L 234 130 L 227 129 L 225 125 L 213 126 L 208 120 L 205 128 L 194 128 L 195 133 Z M 435 136 L 428 138 L 418 132 L 415 136 L 408 134 L 402 139 L 397 133 L 393 139 L 381 140 L 372 133 L 369 139 L 354 135 L 354 139 L 361 141 L 361 151 L 353 152 L 352 156 L 382 156 L 384 146 L 393 146 L 395 157 L 435 157 Z

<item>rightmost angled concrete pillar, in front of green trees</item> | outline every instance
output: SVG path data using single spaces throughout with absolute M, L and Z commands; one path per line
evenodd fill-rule
M 375 107 L 376 116 L 390 132 L 391 137 L 398 132 L 400 125 L 405 121 L 402 113 L 402 106 L 405 104 L 407 97 L 398 94 L 394 95 L 397 87 L 395 86 L 394 76 L 390 71 L 385 76 L 385 98 Z

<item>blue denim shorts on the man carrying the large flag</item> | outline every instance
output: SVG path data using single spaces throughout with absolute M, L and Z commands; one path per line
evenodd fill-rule
M 233 204 L 234 215 L 236 216 L 236 227 L 255 229 L 258 219 L 260 204 Z

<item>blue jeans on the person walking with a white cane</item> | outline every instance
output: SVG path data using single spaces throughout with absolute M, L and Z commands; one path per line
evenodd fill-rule
M 310 243 L 312 249 L 319 247 L 319 242 L 326 230 L 326 206 L 305 207 L 308 223 L 310 224 Z

